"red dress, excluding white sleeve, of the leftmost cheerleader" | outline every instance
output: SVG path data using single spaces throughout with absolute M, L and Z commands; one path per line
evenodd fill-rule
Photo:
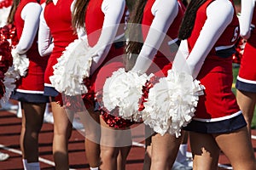
M 15 12 L 15 27 L 17 37 L 20 40 L 24 20 L 21 18 L 21 11 L 27 3 L 38 3 L 36 0 L 21 0 Z M 38 30 L 36 30 L 38 31 Z M 26 57 L 29 59 L 29 66 L 26 77 L 20 77 L 16 82 L 15 92 L 12 94 L 12 99 L 17 99 L 26 102 L 46 102 L 48 98 L 44 94 L 44 71 L 47 65 L 48 58 L 42 58 L 38 54 L 38 36 L 36 35 L 32 47 L 26 52 Z

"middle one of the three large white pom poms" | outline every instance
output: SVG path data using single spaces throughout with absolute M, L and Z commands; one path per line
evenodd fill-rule
M 119 109 L 119 116 L 124 119 L 139 121 L 138 101 L 142 97 L 142 89 L 148 76 L 139 76 L 137 72 L 128 71 L 120 68 L 114 71 L 103 87 L 102 101 L 108 111 Z

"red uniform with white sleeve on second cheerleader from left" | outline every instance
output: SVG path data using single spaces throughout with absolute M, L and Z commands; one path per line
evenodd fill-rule
M 49 77 L 53 75 L 53 65 L 57 63 L 57 59 L 61 57 L 67 45 L 78 38 L 72 28 L 72 3 L 73 0 L 58 0 L 43 6 L 38 47 L 41 55 L 50 54 L 44 76 L 44 95 L 59 94 L 49 81 Z

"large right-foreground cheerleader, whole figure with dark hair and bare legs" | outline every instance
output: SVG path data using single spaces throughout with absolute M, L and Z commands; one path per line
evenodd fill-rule
M 234 169 L 255 169 L 247 122 L 231 91 L 231 55 L 239 37 L 233 2 L 191 1 L 178 37 L 183 41 L 176 57 L 187 60 L 192 76 L 206 88 L 192 122 L 184 127 L 189 130 L 193 169 L 217 169 L 221 150 Z

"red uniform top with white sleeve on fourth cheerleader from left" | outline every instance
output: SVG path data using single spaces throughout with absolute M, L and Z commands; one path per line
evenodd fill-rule
M 172 68 L 174 54 L 179 41 L 177 33 L 184 13 L 183 3 L 176 0 L 148 0 L 143 11 L 144 44 L 132 71 L 154 73 L 155 76 L 167 76 Z M 153 59 L 153 63 L 144 61 Z M 156 67 L 155 67 L 156 66 Z

